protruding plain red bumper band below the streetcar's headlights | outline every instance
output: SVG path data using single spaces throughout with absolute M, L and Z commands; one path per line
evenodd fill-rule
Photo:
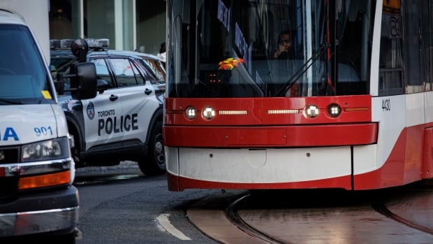
M 302 147 L 376 143 L 378 124 L 317 124 L 287 127 L 164 126 L 164 143 L 173 147 Z

